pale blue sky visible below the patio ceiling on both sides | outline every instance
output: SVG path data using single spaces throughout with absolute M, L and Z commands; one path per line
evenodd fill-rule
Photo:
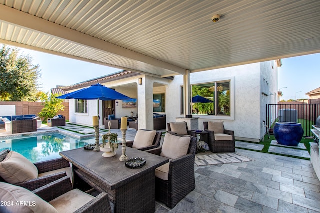
M 57 85 L 69 86 L 92 78 L 108 75 L 120 69 L 65 58 L 48 53 L 19 48 L 29 54 L 33 64 L 41 69 L 41 91 L 48 92 Z M 320 53 L 292 58 L 283 58 L 278 67 L 278 90 L 281 100 L 307 99 L 305 93 L 320 87 Z

